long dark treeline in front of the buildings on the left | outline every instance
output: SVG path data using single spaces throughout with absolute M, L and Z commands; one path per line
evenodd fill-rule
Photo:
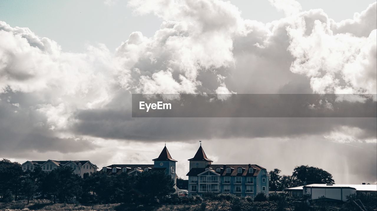
M 0 201 L 31 198 L 51 199 L 54 203 L 75 199 L 81 203 L 158 203 L 175 192 L 174 181 L 163 171 L 152 170 L 138 176 L 127 173 L 109 176 L 94 172 L 84 177 L 71 167 L 44 172 L 40 167 L 24 172 L 21 164 L 0 161 Z

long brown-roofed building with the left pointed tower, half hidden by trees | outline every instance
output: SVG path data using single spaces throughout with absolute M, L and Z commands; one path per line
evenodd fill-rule
M 121 173 L 128 173 L 129 175 L 138 175 L 150 170 L 163 170 L 167 175 L 174 179 L 174 187 L 178 176 L 175 173 L 175 163 L 178 162 L 172 158 L 166 148 L 162 149 L 158 158 L 153 159 L 153 164 L 112 164 L 103 167 L 101 172 L 106 172 L 107 175 L 120 175 Z

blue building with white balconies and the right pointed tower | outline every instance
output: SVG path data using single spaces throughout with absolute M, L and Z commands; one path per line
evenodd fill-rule
M 255 164 L 212 164 L 199 146 L 190 161 L 189 196 L 203 193 L 233 193 L 254 197 L 258 192 L 268 195 L 269 176 L 265 168 Z

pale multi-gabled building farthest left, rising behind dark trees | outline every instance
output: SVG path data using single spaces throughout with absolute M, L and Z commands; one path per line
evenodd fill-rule
M 97 171 L 98 167 L 92 164 L 89 160 L 46 160 L 46 161 L 26 161 L 21 165 L 23 171 L 34 170 L 36 167 L 41 167 L 44 172 L 51 172 L 59 166 L 70 166 L 74 173 L 84 176 L 84 173 L 91 173 Z

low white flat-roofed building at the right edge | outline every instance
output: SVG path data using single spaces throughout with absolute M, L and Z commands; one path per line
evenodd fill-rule
M 376 194 L 377 185 L 371 184 L 310 184 L 288 188 L 290 196 L 310 194 L 312 200 L 326 199 L 345 202 L 349 194 Z

